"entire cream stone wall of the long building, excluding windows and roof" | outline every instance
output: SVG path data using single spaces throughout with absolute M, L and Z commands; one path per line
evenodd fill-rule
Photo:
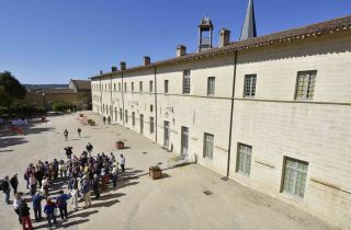
M 339 33 L 305 41 L 238 51 L 233 111 L 229 176 L 259 192 L 296 205 L 341 228 L 351 226 L 351 35 Z M 181 127 L 189 128 L 189 159 L 226 175 L 235 55 L 212 57 L 178 65 L 157 66 L 104 77 L 109 90 L 93 91 L 101 104 L 117 110 L 114 119 L 163 145 L 163 122 L 170 123 L 170 146 L 181 153 Z M 191 70 L 190 94 L 182 93 L 183 70 Z M 315 95 L 296 101 L 297 71 L 317 70 Z M 245 74 L 257 74 L 256 96 L 244 97 Z M 215 95 L 207 96 L 207 78 L 215 77 Z M 157 87 L 149 92 L 149 81 Z M 169 92 L 165 93 L 165 80 Z M 98 80 L 92 80 L 95 83 Z M 112 81 L 112 82 L 111 82 Z M 122 82 L 123 81 L 123 82 Z M 143 81 L 143 92 L 139 92 Z M 132 82 L 134 91 L 131 92 Z M 113 85 L 116 83 L 116 91 Z M 118 91 L 118 83 L 126 92 Z M 123 103 L 124 102 L 124 103 Z M 93 110 L 103 115 L 111 113 Z M 150 105 L 154 111 L 150 112 Z M 128 112 L 128 123 L 120 119 Z M 114 110 L 113 110 L 114 111 Z M 132 125 L 132 112 L 136 124 Z M 109 114 L 110 113 L 110 114 Z M 157 114 L 156 114 L 157 113 Z M 156 120 L 157 115 L 157 120 Z M 149 134 L 149 117 L 157 122 L 157 137 Z M 213 159 L 203 158 L 204 133 L 214 135 Z M 238 142 L 252 146 L 250 176 L 237 170 Z M 290 157 L 308 162 L 304 199 L 281 193 L 283 161 Z

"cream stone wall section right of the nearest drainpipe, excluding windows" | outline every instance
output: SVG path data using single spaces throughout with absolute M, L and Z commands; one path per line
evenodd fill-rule
M 230 177 L 347 229 L 351 226 L 351 36 L 330 38 L 238 54 Z M 294 99 L 297 71 L 303 70 L 317 70 L 310 101 Z M 257 74 L 257 91 L 246 100 L 244 78 L 250 73 Z M 250 176 L 236 173 L 238 142 L 252 146 Z M 284 157 L 308 162 L 304 199 L 281 193 Z

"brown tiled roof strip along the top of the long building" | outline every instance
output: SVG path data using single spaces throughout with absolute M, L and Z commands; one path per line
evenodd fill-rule
M 222 48 L 212 48 L 201 53 L 192 53 L 189 55 L 184 55 L 182 57 L 176 57 L 176 58 L 157 61 L 148 66 L 138 66 L 138 67 L 133 67 L 126 70 L 107 72 L 104 74 L 91 77 L 90 79 L 110 77 L 118 72 L 141 70 L 141 69 L 152 68 L 156 66 L 174 65 L 174 64 L 189 61 L 189 60 L 210 58 L 213 56 L 234 53 L 236 50 L 253 49 L 253 48 L 259 48 L 259 47 L 263 47 L 272 44 L 283 44 L 283 43 L 290 43 L 293 41 L 308 39 L 308 38 L 318 37 L 327 34 L 339 33 L 343 31 L 351 31 L 351 15 L 347 15 L 343 18 L 338 18 L 338 19 L 333 19 L 333 20 L 329 20 L 329 21 L 325 21 L 321 23 L 316 23 L 316 24 L 312 24 L 303 27 L 292 28 L 292 30 L 287 30 L 279 33 L 273 33 L 264 36 L 252 37 L 245 41 L 234 42 Z

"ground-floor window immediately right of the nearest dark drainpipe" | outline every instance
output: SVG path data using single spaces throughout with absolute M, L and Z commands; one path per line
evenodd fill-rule
M 238 145 L 237 172 L 250 175 L 252 147 L 244 143 Z

